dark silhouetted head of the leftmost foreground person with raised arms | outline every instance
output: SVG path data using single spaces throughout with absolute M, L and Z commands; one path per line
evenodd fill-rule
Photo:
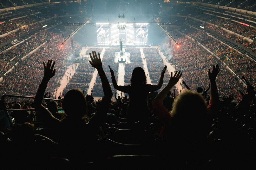
M 65 94 L 62 107 L 68 117 L 87 116 L 87 102 L 83 92 L 78 88 L 71 89 Z

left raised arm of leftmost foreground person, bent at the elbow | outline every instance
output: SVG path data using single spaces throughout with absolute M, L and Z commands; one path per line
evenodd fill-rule
M 48 60 L 46 66 L 45 63 L 43 62 L 43 67 L 44 67 L 44 76 L 42 79 L 41 84 L 39 85 L 39 88 L 36 92 L 36 97 L 34 100 L 34 107 L 36 109 L 36 114 L 39 118 L 43 120 L 43 122 L 50 124 L 51 126 L 57 126 L 60 123 L 60 120 L 55 118 L 51 112 L 49 112 L 43 105 L 43 96 L 45 89 L 47 88 L 47 84 L 49 80 L 55 75 L 55 69 L 54 65 L 55 62 L 53 62 L 52 66 L 52 60 Z

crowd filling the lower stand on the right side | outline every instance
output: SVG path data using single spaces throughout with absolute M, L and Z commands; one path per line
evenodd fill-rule
M 207 76 L 202 76 L 201 70 L 207 69 L 211 65 L 218 63 L 221 68 L 223 68 L 220 73 L 222 81 L 218 82 L 219 95 L 233 94 L 235 100 L 241 99 L 238 89 L 241 88 L 242 90 L 245 90 L 245 88 L 233 73 L 228 69 L 225 69 L 226 67 L 223 62 L 190 39 L 181 38 L 178 43 L 181 43 L 181 48 L 173 51 L 173 58 L 170 61 L 176 63 L 176 69 L 181 69 L 182 72 L 184 72 L 182 77 L 191 89 L 195 90 L 198 87 L 203 89 L 207 88 Z M 184 84 L 182 84 L 182 86 L 186 88 Z

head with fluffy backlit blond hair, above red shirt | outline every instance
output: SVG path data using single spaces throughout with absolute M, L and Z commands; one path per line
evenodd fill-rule
M 173 102 L 171 115 L 175 133 L 183 134 L 187 139 L 207 136 L 209 124 L 207 104 L 201 94 L 190 90 L 179 94 Z M 187 133 L 191 130 L 193 133 Z

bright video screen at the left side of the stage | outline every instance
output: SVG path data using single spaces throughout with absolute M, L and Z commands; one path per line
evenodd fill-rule
M 102 45 L 109 45 L 109 24 L 96 23 L 97 27 L 97 42 Z

